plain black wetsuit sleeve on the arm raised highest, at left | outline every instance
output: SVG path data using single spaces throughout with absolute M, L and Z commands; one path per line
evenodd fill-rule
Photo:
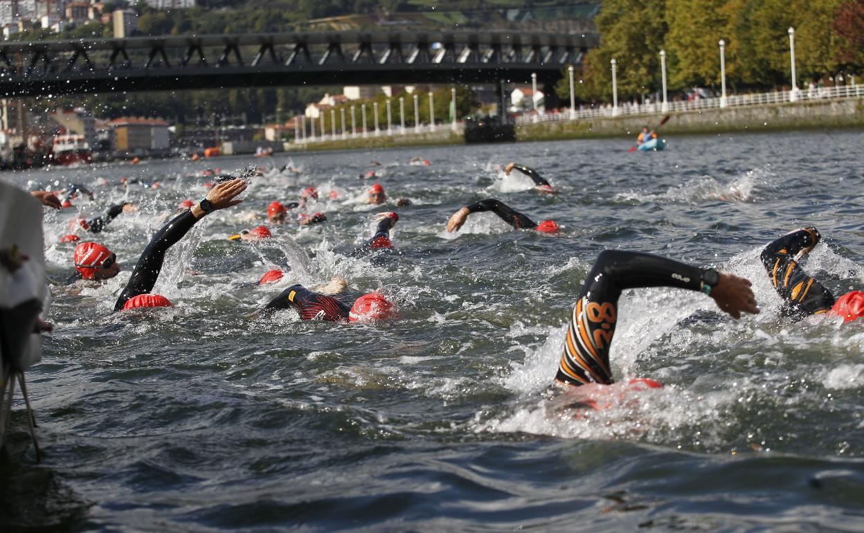
M 147 248 L 144 248 L 138 263 L 135 265 L 135 270 L 132 271 L 129 282 L 126 283 L 126 288 L 123 289 L 117 303 L 114 304 L 115 311 L 122 309 L 130 298 L 147 294 L 153 290 L 159 272 L 162 270 L 165 252 L 183 238 L 192 229 L 195 222 L 198 222 L 198 219 L 191 211 L 187 211 L 177 215 L 156 232 L 156 235 L 147 244 Z

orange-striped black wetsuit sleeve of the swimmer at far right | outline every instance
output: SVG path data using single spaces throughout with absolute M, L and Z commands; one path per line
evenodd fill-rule
M 787 233 L 768 244 L 760 256 L 774 289 L 784 300 L 784 314 L 795 319 L 809 314 L 823 314 L 835 302 L 831 291 L 805 272 L 796 261 L 797 255 L 810 252 L 819 238 L 815 227 Z

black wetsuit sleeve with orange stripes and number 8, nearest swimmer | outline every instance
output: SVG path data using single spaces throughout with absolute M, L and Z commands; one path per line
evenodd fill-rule
M 635 251 L 603 251 L 576 301 L 556 380 L 566 384 L 612 384 L 609 346 L 624 289 L 677 287 L 699 290 L 702 269 Z

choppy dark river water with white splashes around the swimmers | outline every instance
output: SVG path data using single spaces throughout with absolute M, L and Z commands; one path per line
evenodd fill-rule
M 772 238 L 816 225 L 823 242 L 806 268 L 835 294 L 861 287 L 861 133 L 669 141 L 658 153 L 596 140 L 3 175 L 96 193 L 46 213 L 55 279 L 72 272 L 73 244 L 59 238 L 73 211 L 140 206 L 98 235 L 124 265 L 118 277 L 53 289 L 56 329 L 29 371 L 45 459 L 32 464 L 18 410 L 18 453 L 0 472 L 29 488 L 6 489 L 7 519 L 102 531 L 864 530 L 864 321 L 783 319 L 759 263 Z M 388 194 L 413 204 L 396 208 L 396 253 L 355 257 L 373 214 L 393 209 L 362 203 L 372 160 Z M 561 194 L 505 178 L 511 160 Z M 243 204 L 168 253 L 155 292 L 174 308 L 111 313 L 161 220 L 205 194 L 200 172 L 263 161 L 302 174 L 257 178 Z M 126 192 L 121 176 L 162 187 Z M 274 228 L 260 244 L 226 239 L 309 186 L 326 224 Z M 445 231 L 451 213 L 486 197 L 562 232 L 513 231 L 490 213 Z M 701 293 L 627 291 L 613 372 L 665 388 L 600 411 L 559 409 L 550 391 L 566 320 L 609 248 L 746 276 L 762 312 L 735 321 Z M 238 288 L 272 268 L 289 272 Z M 291 283 L 334 275 L 349 295 L 381 288 L 399 319 L 250 316 Z

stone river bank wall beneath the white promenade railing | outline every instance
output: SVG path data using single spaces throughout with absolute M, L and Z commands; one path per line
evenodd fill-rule
M 516 138 L 517 142 L 533 142 L 636 136 L 642 130 L 642 126 L 658 124 L 665 114 L 667 113 L 519 124 L 516 127 Z M 664 136 L 864 128 L 864 98 L 808 100 L 794 104 L 742 105 L 668 114 L 671 118 L 664 124 Z M 337 139 L 309 144 L 286 143 L 285 149 L 286 151 L 383 149 L 464 142 L 461 132 L 454 133 L 449 129 L 448 124 L 443 124 L 441 130 L 434 133 L 405 136 L 370 135 L 360 139 Z

